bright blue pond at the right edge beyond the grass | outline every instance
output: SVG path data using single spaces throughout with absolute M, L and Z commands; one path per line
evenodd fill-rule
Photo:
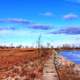
M 70 61 L 73 61 L 76 64 L 80 64 L 80 50 L 60 51 L 59 55 L 65 57 Z

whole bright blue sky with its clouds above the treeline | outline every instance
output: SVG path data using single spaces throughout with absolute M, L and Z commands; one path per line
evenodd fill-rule
M 80 0 L 1 0 L 0 44 L 80 44 Z

